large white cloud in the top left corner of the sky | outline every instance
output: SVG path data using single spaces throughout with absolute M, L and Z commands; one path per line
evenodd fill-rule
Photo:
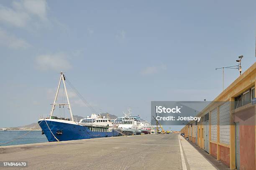
M 35 17 L 46 21 L 46 13 L 46 0 L 13 1 L 12 8 L 0 5 L 0 21 L 16 27 L 25 27 L 29 22 L 38 22 Z

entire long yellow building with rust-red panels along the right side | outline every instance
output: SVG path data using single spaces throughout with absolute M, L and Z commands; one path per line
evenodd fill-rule
M 181 132 L 230 169 L 256 170 L 256 63 L 219 94 Z

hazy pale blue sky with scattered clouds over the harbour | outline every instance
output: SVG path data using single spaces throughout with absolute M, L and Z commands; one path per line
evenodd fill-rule
M 207 101 L 255 63 L 255 0 L 0 2 L 0 127 L 49 114 L 64 71 L 97 111 L 150 121 L 151 101 Z M 224 86 L 238 77 L 226 69 Z M 68 87 L 73 114 L 90 109 Z

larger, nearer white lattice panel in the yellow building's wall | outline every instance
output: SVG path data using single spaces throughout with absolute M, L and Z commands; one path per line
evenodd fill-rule
M 220 105 L 220 142 L 229 145 L 230 141 L 230 101 Z

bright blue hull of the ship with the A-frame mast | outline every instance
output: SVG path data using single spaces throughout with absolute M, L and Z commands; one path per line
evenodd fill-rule
M 78 125 L 76 122 L 66 120 L 40 119 L 38 124 L 49 142 L 56 142 L 58 140 L 66 141 L 100 137 L 114 137 L 120 135 L 120 133 L 115 130 L 112 132 L 93 132 L 90 131 L 88 127 L 84 127 Z

